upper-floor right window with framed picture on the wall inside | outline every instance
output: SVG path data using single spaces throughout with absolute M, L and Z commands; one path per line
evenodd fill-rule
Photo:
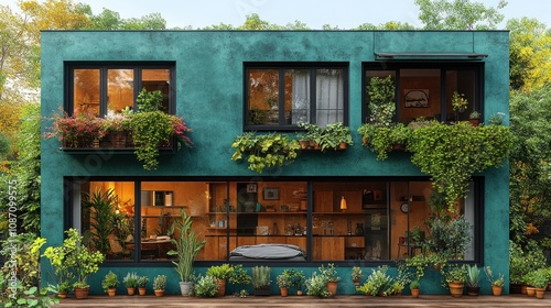
M 483 110 L 483 63 L 380 63 L 366 65 L 366 108 L 369 122 L 369 87 L 372 78 L 390 76 L 396 87 L 395 121 L 409 123 L 415 119 L 455 122 L 468 120 L 473 111 Z M 454 107 L 454 98 L 463 106 Z M 456 100 L 455 100 L 456 101 Z

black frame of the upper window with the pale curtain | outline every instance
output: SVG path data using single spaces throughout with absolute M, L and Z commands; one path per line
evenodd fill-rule
M 309 69 L 311 76 L 310 85 L 310 123 L 315 123 L 316 119 L 316 96 L 315 96 L 315 70 L 316 69 L 342 69 L 343 70 L 343 124 L 348 125 L 349 113 L 349 63 L 347 62 L 281 62 L 281 63 L 244 63 L 244 111 L 242 111 L 242 127 L 245 131 L 298 131 L 300 128 L 296 124 L 284 123 L 284 95 L 279 97 L 279 124 L 262 125 L 248 123 L 248 95 L 249 95 L 249 70 L 250 69 L 277 69 L 280 73 L 279 92 L 284 94 L 284 78 L 285 69 Z

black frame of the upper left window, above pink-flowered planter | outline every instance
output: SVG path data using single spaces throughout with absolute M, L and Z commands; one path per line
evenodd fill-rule
M 133 110 L 138 110 L 136 98 L 143 87 L 142 69 L 169 69 L 169 114 L 176 112 L 176 63 L 175 62 L 66 62 L 65 63 L 65 94 L 64 110 L 68 114 L 74 113 L 73 94 L 74 94 L 74 72 L 75 69 L 99 69 L 99 117 L 107 114 L 107 72 L 109 69 L 133 69 Z

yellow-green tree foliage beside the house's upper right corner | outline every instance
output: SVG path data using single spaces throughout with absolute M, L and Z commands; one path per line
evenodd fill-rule
M 509 35 L 510 87 L 530 91 L 551 81 L 551 34 L 537 19 L 507 21 Z

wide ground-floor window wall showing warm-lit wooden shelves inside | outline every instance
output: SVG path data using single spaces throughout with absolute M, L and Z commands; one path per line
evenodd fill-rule
M 206 241 L 198 261 L 230 261 L 239 246 L 300 248 L 304 262 L 385 262 L 422 253 L 437 216 L 429 180 L 85 180 L 73 182 L 72 227 L 109 261 L 169 260 L 171 224 L 184 210 Z M 474 226 L 465 254 L 475 261 L 482 210 L 477 187 L 455 205 Z

